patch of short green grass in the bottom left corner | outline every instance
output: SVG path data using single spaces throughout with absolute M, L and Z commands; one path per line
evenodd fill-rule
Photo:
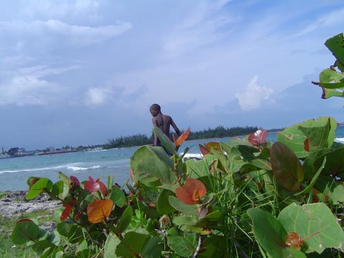
M 32 213 L 23 213 L 20 217 L 3 217 L 0 215 L 0 257 L 14 258 L 25 257 L 33 258 L 37 257 L 35 252 L 30 247 L 16 246 L 11 241 L 11 230 L 19 219 L 29 218 L 37 219 L 39 224 L 44 222 L 53 222 L 54 216 L 52 211 L 34 211 Z

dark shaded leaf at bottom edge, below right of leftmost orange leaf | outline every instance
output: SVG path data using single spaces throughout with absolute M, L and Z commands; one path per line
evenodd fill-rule
M 141 253 L 144 243 L 147 240 L 148 235 L 143 235 L 136 232 L 128 232 L 125 234 L 124 239 L 118 244 L 116 248 L 116 255 L 118 257 L 135 257 Z

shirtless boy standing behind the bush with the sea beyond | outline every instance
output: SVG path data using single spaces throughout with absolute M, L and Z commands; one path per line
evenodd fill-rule
M 170 138 L 170 126 L 172 125 L 173 129 L 175 130 L 175 133 L 180 136 L 180 130 L 173 122 L 171 116 L 163 115 L 160 111 L 160 106 L 157 104 L 151 105 L 151 108 L 149 109 L 151 112 L 151 115 L 153 118 L 151 119 L 153 122 L 153 127 L 159 127 L 160 130 L 168 137 Z M 159 138 L 154 134 L 154 146 L 161 146 Z

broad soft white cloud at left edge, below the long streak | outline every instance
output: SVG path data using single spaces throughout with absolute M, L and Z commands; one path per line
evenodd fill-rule
M 17 69 L 0 83 L 0 105 L 46 105 L 63 87 L 45 76 L 63 74 L 76 66 L 50 68 L 44 65 Z

